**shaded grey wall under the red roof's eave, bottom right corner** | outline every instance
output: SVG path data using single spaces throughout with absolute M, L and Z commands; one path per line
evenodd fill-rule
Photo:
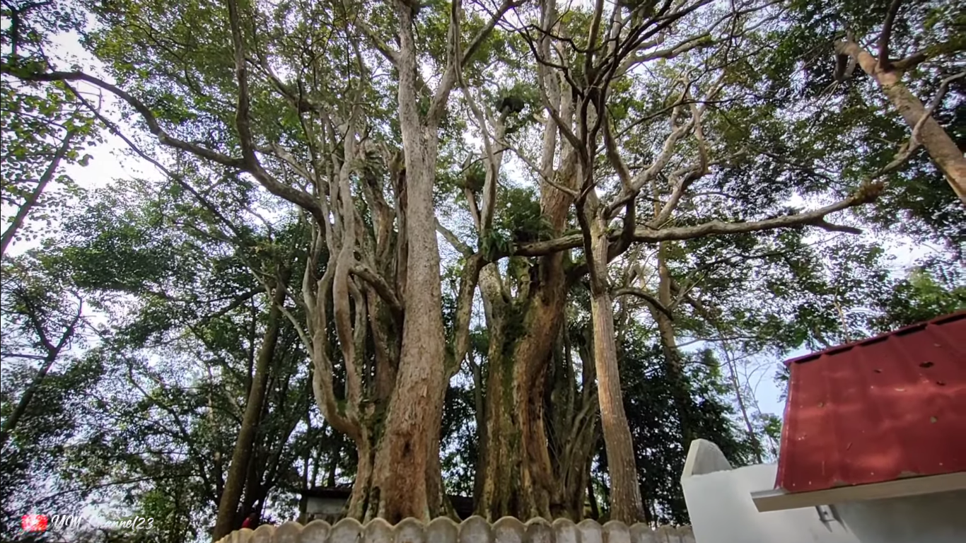
M 835 509 L 862 543 L 966 541 L 966 491 L 852 501 Z

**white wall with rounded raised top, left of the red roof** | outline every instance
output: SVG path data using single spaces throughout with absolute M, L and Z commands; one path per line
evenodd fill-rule
M 692 443 L 681 485 L 696 542 L 866 543 L 814 507 L 759 513 L 752 492 L 772 488 L 777 472 L 775 464 L 733 470 L 714 443 Z

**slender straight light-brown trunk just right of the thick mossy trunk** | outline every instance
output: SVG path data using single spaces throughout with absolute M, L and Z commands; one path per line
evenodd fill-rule
M 607 444 L 608 471 L 611 475 L 611 520 L 628 525 L 644 519 L 640 499 L 634 442 L 624 412 L 617 368 L 616 335 L 613 329 L 613 301 L 608 285 L 607 224 L 595 213 L 596 205 L 587 203 L 589 229 L 588 266 L 590 268 L 590 310 L 594 327 L 594 364 L 597 368 L 597 395 L 600 399 L 601 426 Z M 582 213 L 579 210 L 578 213 Z M 589 235 L 588 235 L 589 234 Z

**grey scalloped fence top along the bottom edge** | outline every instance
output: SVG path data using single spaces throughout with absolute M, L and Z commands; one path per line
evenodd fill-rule
M 343 519 L 335 526 L 312 521 L 302 526 L 289 522 L 281 526 L 239 529 L 218 543 L 696 543 L 691 527 L 663 526 L 652 529 L 645 524 L 630 528 L 611 521 L 604 526 L 585 520 L 574 524 L 565 519 L 553 523 L 533 519 L 526 523 L 503 517 L 491 524 L 482 517 L 469 517 L 460 524 L 447 518 L 424 524 L 404 519 L 392 526 L 383 519 L 360 524 Z

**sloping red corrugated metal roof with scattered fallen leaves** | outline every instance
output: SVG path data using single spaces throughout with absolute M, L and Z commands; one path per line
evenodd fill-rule
M 776 488 L 966 472 L 966 311 L 786 363 Z

